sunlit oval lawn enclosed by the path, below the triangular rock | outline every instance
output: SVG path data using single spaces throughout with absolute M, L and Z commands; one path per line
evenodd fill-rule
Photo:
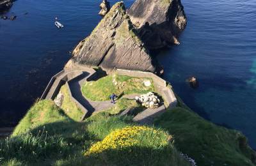
M 114 81 L 113 81 L 114 80 Z M 81 91 L 86 98 L 93 101 L 106 101 L 112 93 L 118 96 L 122 94 L 143 94 L 154 91 L 154 84 L 146 87 L 143 80 L 147 78 L 128 77 L 124 75 L 108 75 L 97 81 L 86 82 Z M 116 82 L 115 85 L 113 82 Z

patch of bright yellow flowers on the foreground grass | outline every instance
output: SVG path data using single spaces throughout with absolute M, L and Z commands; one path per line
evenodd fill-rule
M 147 126 L 128 126 L 111 132 L 104 140 L 93 144 L 85 155 L 95 155 L 108 149 L 123 149 L 139 145 L 141 138 L 143 138 L 143 135 L 146 133 L 150 133 L 150 137 L 152 137 L 150 139 L 153 139 L 153 142 L 157 139 L 158 135 L 164 134 L 166 139 L 159 141 L 159 145 L 168 144 L 168 135 L 163 131 L 154 130 L 154 128 Z

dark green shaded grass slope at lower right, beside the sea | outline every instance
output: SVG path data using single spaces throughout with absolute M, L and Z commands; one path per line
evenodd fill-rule
M 235 130 L 216 126 L 190 110 L 177 108 L 165 112 L 154 123 L 173 135 L 175 146 L 195 159 L 198 165 L 253 165 L 255 152 L 246 138 Z

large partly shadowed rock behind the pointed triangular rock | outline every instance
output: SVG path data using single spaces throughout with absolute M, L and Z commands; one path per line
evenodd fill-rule
M 180 0 L 136 0 L 128 15 L 149 49 L 179 44 L 187 23 Z

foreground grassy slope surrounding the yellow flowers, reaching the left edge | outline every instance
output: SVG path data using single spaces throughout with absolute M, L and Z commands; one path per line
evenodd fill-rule
M 131 125 L 131 117 L 107 113 L 77 123 L 51 100 L 43 100 L 31 107 L 10 139 L 0 142 L 0 165 L 187 165 L 171 143 L 150 146 L 148 142 L 154 142 L 150 141 L 152 137 L 142 137 L 140 146 L 84 156 L 95 142 Z M 22 133 L 24 129 L 26 133 Z

